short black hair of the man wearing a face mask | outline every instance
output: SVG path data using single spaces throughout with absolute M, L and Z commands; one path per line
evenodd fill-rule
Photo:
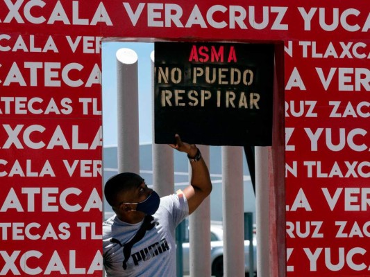
M 106 196 L 108 204 L 110 204 L 110 206 L 117 205 L 117 195 L 137 186 L 137 184 L 143 181 L 144 179 L 142 179 L 140 175 L 133 172 L 119 173 L 110 177 L 104 187 L 104 195 Z

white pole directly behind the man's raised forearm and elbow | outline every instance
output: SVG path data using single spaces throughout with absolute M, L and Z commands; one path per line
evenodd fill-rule
M 210 147 L 197 145 L 210 168 Z M 191 170 L 190 170 L 191 172 Z M 191 175 L 189 176 L 192 178 Z M 210 196 L 190 215 L 190 276 L 211 276 Z

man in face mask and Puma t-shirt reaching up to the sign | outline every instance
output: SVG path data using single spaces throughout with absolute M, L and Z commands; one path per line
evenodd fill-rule
M 208 168 L 195 145 L 176 134 L 172 148 L 187 153 L 190 185 L 160 198 L 131 172 L 111 177 L 104 188 L 115 216 L 103 222 L 103 262 L 109 277 L 176 276 L 176 226 L 196 210 L 211 190 Z

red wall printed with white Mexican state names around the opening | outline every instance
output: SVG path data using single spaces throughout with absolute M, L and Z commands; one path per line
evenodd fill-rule
M 101 276 L 100 37 L 284 42 L 287 276 L 369 275 L 368 1 L 219 3 L 0 2 L 0 276 Z

